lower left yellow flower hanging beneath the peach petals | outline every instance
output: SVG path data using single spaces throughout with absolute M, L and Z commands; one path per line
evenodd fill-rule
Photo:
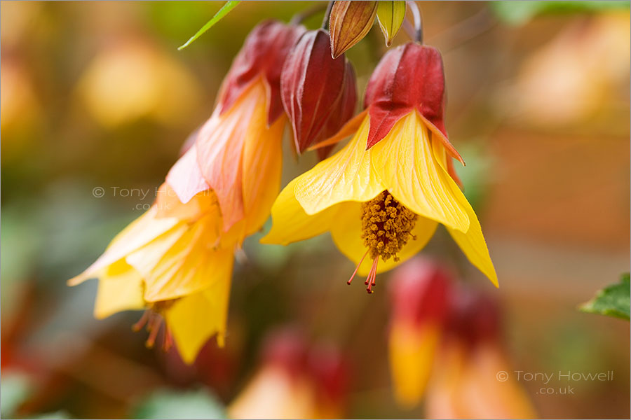
M 68 283 L 99 279 L 96 318 L 148 309 L 137 324 L 140 329 L 147 323 L 148 346 L 154 345 L 164 319 L 165 346 L 173 337 L 184 361 L 192 363 L 209 337 L 217 334 L 223 342 L 234 242 L 219 235 L 221 215 L 210 191 L 187 204 L 172 197 L 165 184 L 156 204 Z

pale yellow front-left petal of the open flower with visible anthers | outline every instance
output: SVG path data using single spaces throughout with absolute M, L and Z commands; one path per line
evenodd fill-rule
M 385 190 L 366 151 L 369 117 L 351 141 L 330 158 L 298 176 L 294 194 L 306 214 L 346 201 L 366 202 Z

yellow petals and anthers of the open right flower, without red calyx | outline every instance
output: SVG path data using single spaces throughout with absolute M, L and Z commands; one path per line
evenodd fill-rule
M 442 141 L 412 110 L 367 149 L 369 121 L 368 113 L 351 120 L 347 126 L 359 125 L 351 141 L 283 189 L 262 242 L 286 245 L 331 232 L 356 272 L 368 276 L 371 292 L 377 273 L 420 251 L 441 223 L 497 286 L 480 223 L 448 173 Z

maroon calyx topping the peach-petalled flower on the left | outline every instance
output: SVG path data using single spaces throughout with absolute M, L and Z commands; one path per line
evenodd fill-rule
M 267 20 L 252 29 L 232 66 L 219 94 L 219 113 L 236 102 L 250 84 L 263 76 L 268 90 L 267 123 L 271 125 L 283 113 L 280 100 L 280 71 L 290 49 L 305 28 Z

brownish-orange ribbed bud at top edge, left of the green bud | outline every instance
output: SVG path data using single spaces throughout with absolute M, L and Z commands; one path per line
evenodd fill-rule
M 336 1 L 331 9 L 331 55 L 339 57 L 366 36 L 376 15 L 376 1 Z

